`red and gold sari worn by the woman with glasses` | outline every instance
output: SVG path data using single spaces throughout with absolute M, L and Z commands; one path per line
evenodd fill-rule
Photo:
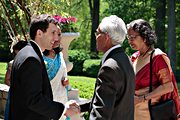
M 148 54 L 150 54 L 149 52 Z M 135 52 L 131 60 L 133 62 L 133 67 L 136 73 L 135 80 L 135 94 L 136 95 L 145 95 L 149 93 L 149 79 L 150 79 L 150 63 L 147 58 L 145 64 L 140 67 L 140 69 L 136 69 L 138 62 L 138 56 L 140 52 Z M 150 56 L 150 55 L 149 55 Z M 173 99 L 176 104 L 177 113 L 180 113 L 180 105 L 179 105 L 179 95 L 178 95 L 178 87 L 175 80 L 175 76 L 172 72 L 172 68 L 170 66 L 170 60 L 167 55 L 162 52 L 160 49 L 155 49 L 153 54 L 153 65 L 152 65 L 152 88 L 155 89 L 159 85 L 164 83 L 172 82 L 174 89 L 171 93 L 164 94 L 162 96 L 158 96 L 152 99 L 152 104 L 155 104 L 160 101 Z M 135 105 L 135 120 L 150 120 L 148 101 L 141 102 Z

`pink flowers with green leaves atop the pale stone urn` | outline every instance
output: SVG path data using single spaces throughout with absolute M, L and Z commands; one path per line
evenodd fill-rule
M 54 18 L 59 22 L 61 32 L 77 32 L 77 28 L 74 23 L 77 21 L 75 17 L 62 17 L 55 15 Z

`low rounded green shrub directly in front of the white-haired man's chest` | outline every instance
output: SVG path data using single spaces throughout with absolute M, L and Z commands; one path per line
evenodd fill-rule
M 89 59 L 83 64 L 83 74 L 88 77 L 96 77 L 100 68 L 101 60 Z

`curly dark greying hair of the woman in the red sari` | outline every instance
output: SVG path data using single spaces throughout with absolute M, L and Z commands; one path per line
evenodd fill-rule
M 140 36 L 146 40 L 146 44 L 148 46 L 155 44 L 157 41 L 155 31 L 152 30 L 150 24 L 143 19 L 132 21 L 127 25 L 127 28 L 133 29 L 135 32 L 138 32 Z

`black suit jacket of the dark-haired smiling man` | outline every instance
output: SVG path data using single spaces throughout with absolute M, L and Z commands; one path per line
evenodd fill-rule
M 63 104 L 53 101 L 41 52 L 31 41 L 13 62 L 9 119 L 58 120 L 63 110 Z

